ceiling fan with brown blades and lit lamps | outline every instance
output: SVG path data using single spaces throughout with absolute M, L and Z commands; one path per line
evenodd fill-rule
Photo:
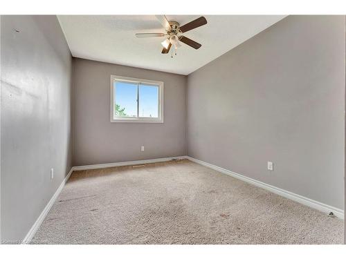
M 136 33 L 136 37 L 167 37 L 164 41 L 161 42 L 163 46 L 163 50 L 161 52 L 162 54 L 167 54 L 168 52 L 170 52 L 170 48 L 172 47 L 172 45 L 176 50 L 181 46 L 180 42 L 183 42 L 184 44 L 187 44 L 188 46 L 196 50 L 201 48 L 201 44 L 196 41 L 192 41 L 192 39 L 189 39 L 182 34 L 194 28 L 198 28 L 199 26 L 205 25 L 207 23 L 205 17 L 199 17 L 193 21 L 190 21 L 190 23 L 186 23 L 183 26 L 180 26 L 180 24 L 176 21 L 168 21 L 165 15 L 156 15 L 156 18 L 161 22 L 163 28 L 165 28 L 166 30 L 166 33 Z

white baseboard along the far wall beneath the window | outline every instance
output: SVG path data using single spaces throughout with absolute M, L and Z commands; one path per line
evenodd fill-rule
M 152 164 L 152 163 L 158 163 L 158 162 L 167 162 L 172 159 L 185 159 L 186 157 L 179 156 L 179 157 L 163 157 L 163 158 L 155 158 L 155 159 L 148 159 L 148 160 L 137 160 L 137 161 L 127 161 L 127 162 L 116 162 L 116 163 L 108 163 L 108 164 L 90 164 L 87 166 L 73 166 L 73 171 L 80 171 L 80 170 L 89 170 L 89 169 L 102 169 L 107 167 L 115 167 L 115 166 L 132 166 L 135 164 Z

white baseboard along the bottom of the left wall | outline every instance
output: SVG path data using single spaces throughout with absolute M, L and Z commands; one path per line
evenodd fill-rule
M 49 200 L 49 202 L 47 203 L 46 207 L 44 207 L 44 210 L 39 215 L 39 218 L 37 218 L 36 222 L 33 224 L 33 227 L 31 227 L 31 229 L 26 234 L 26 237 L 21 242 L 22 244 L 28 244 L 31 241 L 31 239 L 33 239 L 37 229 L 39 229 L 39 226 L 41 226 L 42 222 L 44 221 L 44 218 L 46 218 L 46 215 L 51 210 L 55 200 L 57 200 L 57 196 L 59 196 L 59 194 L 61 193 L 62 189 L 64 188 L 64 186 L 66 184 L 66 182 L 69 180 L 72 172 L 73 172 L 73 169 L 71 169 L 69 171 L 69 173 L 66 175 L 66 178 L 62 181 L 62 183 L 60 184 L 60 186 L 57 189 L 57 191 L 55 191 L 53 197 L 51 198 L 51 200 Z

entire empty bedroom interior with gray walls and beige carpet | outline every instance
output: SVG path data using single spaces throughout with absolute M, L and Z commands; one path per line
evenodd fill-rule
M 345 48 L 345 15 L 1 15 L 1 243 L 344 244 Z

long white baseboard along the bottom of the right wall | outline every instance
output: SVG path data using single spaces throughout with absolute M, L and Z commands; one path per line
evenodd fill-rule
M 203 166 L 209 167 L 210 169 L 214 169 L 215 171 L 219 171 L 220 173 L 225 173 L 226 175 L 233 176 L 234 178 L 237 178 L 239 180 L 242 180 L 244 182 L 248 182 L 249 184 L 253 184 L 255 186 L 261 187 L 263 189 L 266 189 L 267 191 L 271 191 L 272 193 L 276 193 L 284 198 L 288 198 L 290 200 L 294 200 L 295 202 L 299 202 L 300 204 L 304 204 L 308 207 L 311 207 L 313 209 L 317 209 L 318 211 L 322 211 L 325 213 L 332 212 L 336 217 L 344 219 L 344 211 L 342 209 L 338 209 L 336 207 L 329 206 L 327 204 L 324 204 L 322 202 L 318 202 L 316 200 L 311 200 L 309 198 L 306 198 L 302 195 L 298 195 L 295 193 L 291 193 L 290 191 L 286 191 L 280 188 L 277 188 L 275 186 L 272 186 L 270 184 L 265 184 L 264 182 L 260 182 L 257 180 L 254 180 L 252 178 L 248 178 L 244 175 L 240 175 L 239 173 L 234 173 L 230 170 L 223 169 L 219 166 L 215 166 L 214 164 L 209 164 L 207 162 L 203 162 L 201 160 L 197 160 L 196 158 L 186 156 L 188 160 L 191 160 L 192 162 L 196 162 L 197 164 L 201 164 Z

